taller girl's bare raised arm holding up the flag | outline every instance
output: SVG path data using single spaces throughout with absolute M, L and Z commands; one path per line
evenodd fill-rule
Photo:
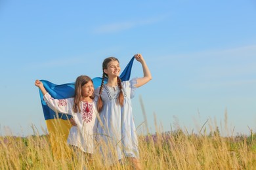
M 144 74 L 142 78 L 137 78 L 137 84 L 135 84 L 135 86 L 139 88 L 140 86 L 143 86 L 144 84 L 149 82 L 152 79 L 152 76 L 151 76 L 150 70 L 148 69 L 148 65 L 146 65 L 146 61 L 144 60 L 142 55 L 135 54 L 135 59 L 137 59 L 137 61 L 141 63 L 143 74 Z

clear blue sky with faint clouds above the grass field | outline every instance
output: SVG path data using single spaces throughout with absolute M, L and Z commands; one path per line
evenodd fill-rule
M 153 79 L 133 99 L 135 124 L 223 135 L 256 130 L 255 1 L 0 1 L 0 135 L 40 133 L 35 79 L 102 75 L 108 56 L 133 54 Z M 132 77 L 142 76 L 135 61 Z M 225 114 L 226 113 L 226 114 Z M 142 126 L 138 131 L 144 131 Z

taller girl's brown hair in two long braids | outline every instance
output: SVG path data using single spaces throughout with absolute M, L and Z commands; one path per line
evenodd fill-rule
M 103 74 L 102 74 L 102 81 L 101 81 L 101 85 L 100 85 L 100 92 L 99 92 L 99 96 L 98 96 L 98 102 L 97 102 L 97 109 L 98 109 L 98 112 L 101 112 L 102 110 L 102 107 L 103 107 L 103 101 L 102 101 L 102 98 L 101 98 L 101 93 L 102 93 L 102 90 L 103 90 L 103 84 L 104 84 L 104 78 L 108 78 L 108 75 L 106 73 L 104 73 L 104 69 L 107 69 L 108 68 L 108 63 L 110 63 L 110 61 L 118 61 L 117 58 L 114 58 L 114 57 L 110 57 L 110 58 L 106 58 L 104 59 L 103 63 L 102 63 L 102 71 L 103 71 Z M 119 63 L 119 61 L 118 61 Z M 118 84 L 118 87 L 119 87 L 119 96 L 118 96 L 118 103 L 119 105 L 123 106 L 123 91 L 121 90 L 122 89 L 122 85 L 121 85 L 121 79 L 119 78 L 119 76 L 117 76 L 117 84 Z

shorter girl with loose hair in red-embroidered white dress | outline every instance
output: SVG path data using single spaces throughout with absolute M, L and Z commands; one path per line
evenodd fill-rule
M 45 103 L 51 109 L 73 116 L 76 126 L 70 129 L 68 144 L 87 153 L 90 160 L 94 148 L 96 114 L 98 114 L 93 100 L 93 80 L 89 76 L 78 76 L 75 80 L 75 96 L 68 99 L 53 99 L 39 80 L 35 80 L 35 86 L 39 87 Z

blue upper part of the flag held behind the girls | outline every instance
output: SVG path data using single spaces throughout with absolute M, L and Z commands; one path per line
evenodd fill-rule
M 131 76 L 131 68 L 133 67 L 133 60 L 135 58 L 133 57 L 131 61 L 127 64 L 121 75 L 119 76 L 122 81 L 129 80 Z M 95 89 L 100 86 L 102 82 L 102 77 L 95 77 L 92 79 L 93 85 Z M 104 83 L 108 81 L 107 78 L 104 78 Z M 41 80 L 43 82 L 43 86 L 45 86 L 45 89 L 47 92 L 54 98 L 54 99 L 65 99 L 69 97 L 74 97 L 75 92 L 75 83 L 66 83 L 66 84 L 53 84 L 52 82 L 49 82 L 47 80 Z M 41 98 L 41 105 L 43 107 L 43 114 L 45 116 L 45 120 L 54 119 L 54 118 L 62 118 L 64 120 L 70 119 L 72 116 L 68 114 L 62 114 L 58 113 L 56 114 L 54 110 L 50 109 L 45 101 L 43 100 L 43 93 L 41 90 L 39 90 L 40 98 Z

